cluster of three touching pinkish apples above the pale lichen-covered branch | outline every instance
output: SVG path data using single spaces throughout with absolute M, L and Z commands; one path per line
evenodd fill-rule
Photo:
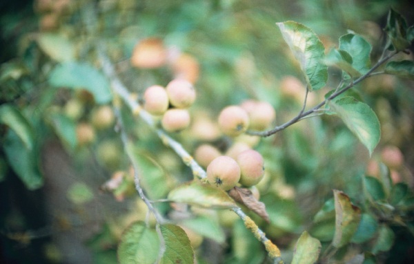
M 161 126 L 168 132 L 178 132 L 190 125 L 188 107 L 195 102 L 195 88 L 186 79 L 173 79 L 164 88 L 153 85 L 144 92 L 144 109 L 161 117 Z

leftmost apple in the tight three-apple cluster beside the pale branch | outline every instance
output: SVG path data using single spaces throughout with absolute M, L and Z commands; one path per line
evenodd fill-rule
M 162 115 L 168 109 L 166 89 L 159 85 L 146 88 L 144 92 L 144 109 L 152 115 Z

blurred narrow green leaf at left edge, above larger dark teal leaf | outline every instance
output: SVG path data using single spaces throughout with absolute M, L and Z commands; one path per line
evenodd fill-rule
M 13 129 L 25 144 L 28 150 L 32 150 L 34 142 L 34 131 L 32 126 L 24 117 L 19 109 L 11 104 L 3 104 L 0 106 L 0 123 L 6 124 Z

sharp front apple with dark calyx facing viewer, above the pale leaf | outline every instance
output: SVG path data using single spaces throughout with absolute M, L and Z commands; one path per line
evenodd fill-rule
M 207 179 L 211 184 L 228 191 L 240 180 L 240 167 L 233 158 L 221 155 L 207 167 Z

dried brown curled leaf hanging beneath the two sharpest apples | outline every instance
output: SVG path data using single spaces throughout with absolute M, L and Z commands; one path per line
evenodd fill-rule
M 270 223 L 270 218 L 266 211 L 266 206 L 263 202 L 259 202 L 253 196 L 252 191 L 247 188 L 234 187 L 228 191 L 228 195 L 233 198 L 236 202 L 246 205 L 246 207 L 254 211 L 258 216 Z

